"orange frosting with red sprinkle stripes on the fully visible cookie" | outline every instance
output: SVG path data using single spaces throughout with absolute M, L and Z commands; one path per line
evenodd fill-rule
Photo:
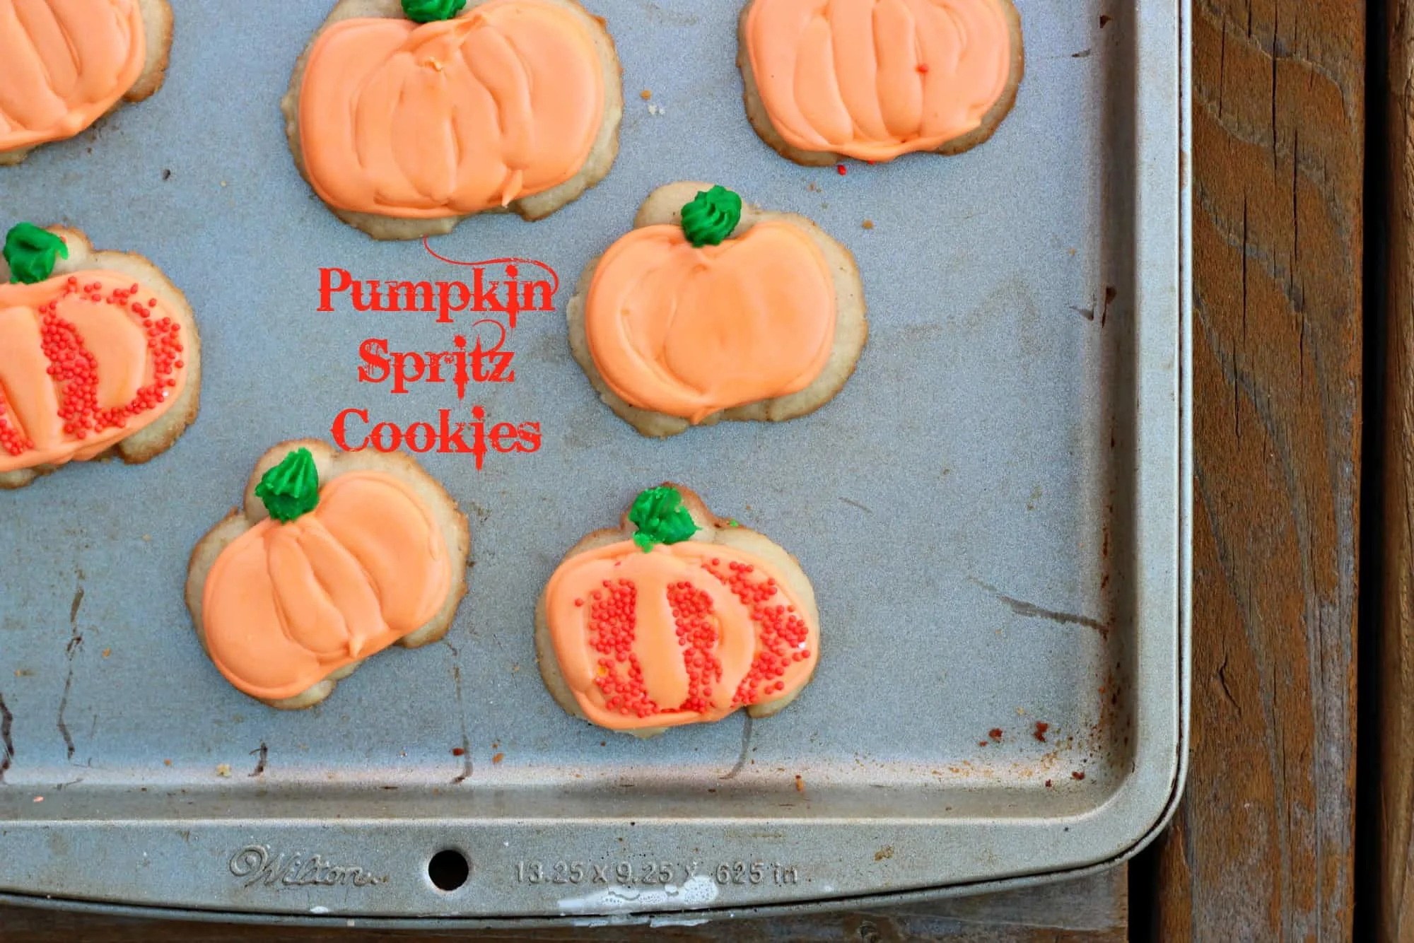
M 765 560 L 687 540 L 632 540 L 563 561 L 546 587 L 560 673 L 609 730 L 717 721 L 810 680 L 819 625 Z

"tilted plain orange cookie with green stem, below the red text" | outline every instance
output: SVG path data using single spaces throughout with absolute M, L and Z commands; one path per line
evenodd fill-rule
M 187 608 L 228 681 L 298 710 L 390 645 L 445 635 L 469 551 L 465 515 L 407 455 L 281 443 L 192 550 Z

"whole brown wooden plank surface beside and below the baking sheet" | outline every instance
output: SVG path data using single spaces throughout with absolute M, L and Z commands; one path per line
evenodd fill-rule
M 1192 3 L 1192 749 L 1174 824 L 1086 881 L 652 939 L 1414 940 L 1414 0 Z M 6 942 L 383 936 L 0 908 Z

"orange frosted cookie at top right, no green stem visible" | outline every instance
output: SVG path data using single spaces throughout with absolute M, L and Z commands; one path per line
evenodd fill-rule
M 799 164 L 959 154 L 1024 71 L 1011 0 L 751 0 L 738 34 L 747 116 Z

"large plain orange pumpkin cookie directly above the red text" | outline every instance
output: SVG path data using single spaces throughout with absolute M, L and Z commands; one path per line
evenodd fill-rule
M 624 89 L 604 20 L 575 0 L 339 0 L 281 107 L 339 219 L 417 239 L 575 199 L 618 154 Z

